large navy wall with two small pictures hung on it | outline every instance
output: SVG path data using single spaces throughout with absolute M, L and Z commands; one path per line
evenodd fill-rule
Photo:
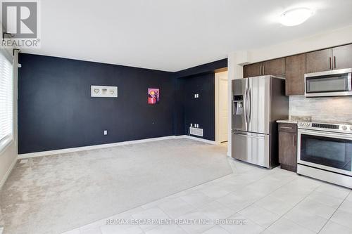
M 172 72 L 25 53 L 19 63 L 20 154 L 175 132 Z M 118 86 L 118 98 L 91 98 L 91 85 Z M 158 105 L 146 103 L 148 88 L 161 89 Z

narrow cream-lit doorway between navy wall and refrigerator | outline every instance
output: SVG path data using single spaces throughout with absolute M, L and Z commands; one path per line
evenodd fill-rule
M 215 141 L 227 143 L 227 71 L 215 73 Z

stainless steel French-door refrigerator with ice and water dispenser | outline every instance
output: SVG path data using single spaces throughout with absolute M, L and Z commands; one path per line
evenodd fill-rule
M 272 168 L 278 164 L 277 119 L 287 119 L 285 81 L 270 75 L 232 81 L 232 157 Z

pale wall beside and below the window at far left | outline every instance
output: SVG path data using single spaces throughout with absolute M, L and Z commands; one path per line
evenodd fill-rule
M 18 51 L 15 51 L 13 61 L 13 142 L 0 152 L 0 188 L 4 185 L 6 178 L 11 173 L 17 161 L 17 80 L 18 80 Z

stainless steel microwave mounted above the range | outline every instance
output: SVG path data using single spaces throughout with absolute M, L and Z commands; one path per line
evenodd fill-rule
M 351 73 L 352 68 L 305 74 L 305 96 L 352 96 Z

